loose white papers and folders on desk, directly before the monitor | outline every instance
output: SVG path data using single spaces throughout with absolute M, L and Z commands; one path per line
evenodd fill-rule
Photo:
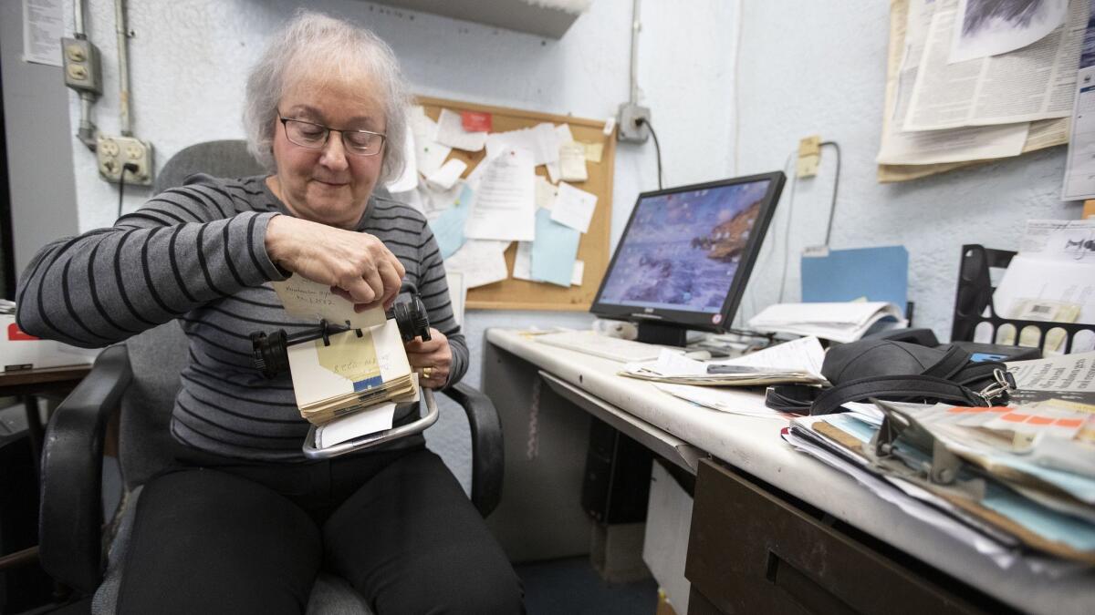
M 696 361 L 662 350 L 654 361 L 627 363 L 620 375 L 702 386 L 828 384 L 821 375 L 825 351 L 816 337 L 805 337 L 724 361 Z

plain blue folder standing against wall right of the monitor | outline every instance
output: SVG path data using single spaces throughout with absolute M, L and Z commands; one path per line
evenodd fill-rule
M 887 301 L 904 314 L 909 292 L 909 252 L 904 246 L 831 250 L 803 256 L 803 301 Z

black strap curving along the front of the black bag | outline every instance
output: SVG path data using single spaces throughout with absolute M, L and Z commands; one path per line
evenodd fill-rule
M 977 392 L 942 378 L 930 375 L 873 376 L 862 378 L 833 386 L 817 396 L 810 406 L 810 415 L 828 415 L 840 411 L 849 402 L 863 402 L 868 397 L 881 398 L 933 398 L 956 402 L 965 406 L 988 406 Z

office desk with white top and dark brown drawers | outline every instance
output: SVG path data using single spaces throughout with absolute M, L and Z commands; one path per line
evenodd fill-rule
M 701 408 L 665 394 L 648 382 L 615 375 L 620 368 L 618 362 L 538 344 L 512 330 L 493 328 L 485 337 L 483 390 L 498 407 L 506 436 L 506 481 L 497 511 L 500 518 L 496 520 L 493 515 L 487 521 L 504 544 L 507 538 L 520 541 L 519 535 L 523 532 L 529 545 L 526 550 L 530 553 L 538 542 L 548 543 L 556 550 L 565 550 L 564 545 L 578 546 L 577 541 L 560 533 L 560 527 L 570 525 L 580 530 L 580 521 L 574 519 L 575 513 L 569 509 L 577 509 L 577 517 L 581 517 L 580 507 L 572 507 L 572 503 L 577 502 L 580 491 L 588 419 L 564 417 L 555 409 L 552 411 L 557 416 L 543 416 L 544 387 L 558 388 L 563 391 L 558 394 L 561 398 L 568 398 L 574 406 L 591 414 L 600 413 L 599 418 L 618 428 L 625 426 L 621 431 L 682 467 L 695 472 L 695 464 L 708 464 L 701 460 L 710 455 L 717 462 L 714 465 L 728 473 L 756 479 L 758 485 L 766 484 L 772 491 L 782 491 L 791 499 L 815 507 L 873 539 L 912 556 L 926 564 L 929 570 L 960 579 L 966 585 L 1017 610 L 1080 614 L 1091 613 L 1095 604 L 1095 575 L 1088 572 L 1053 581 L 1036 577 L 1022 566 L 1000 570 L 972 548 L 956 545 L 942 532 L 903 514 L 860 487 L 851 477 L 793 451 L 780 439 L 780 429 L 785 426 L 781 419 L 735 416 Z M 538 409 L 541 416 L 530 421 L 530 406 L 537 388 L 541 390 Z M 741 392 L 740 395 L 744 406 L 763 405 L 759 394 Z M 551 418 L 550 423 L 548 418 Z M 534 428 L 530 429 L 530 425 Z M 538 443 L 534 438 L 526 437 L 533 432 L 539 434 Z M 549 436 L 561 442 L 549 445 Z M 531 463 L 530 445 L 539 448 L 540 454 L 550 452 L 552 457 L 545 460 L 548 463 Z M 577 462 L 568 460 L 567 453 L 575 455 Z M 558 471 L 552 472 L 550 466 L 556 463 Z M 717 474 L 707 469 L 701 472 L 696 492 L 704 490 L 704 480 L 710 481 L 707 477 Z M 573 489 L 573 498 L 560 485 Z M 551 495 L 544 496 L 544 491 Z M 520 526 L 521 515 L 529 519 L 525 526 Z M 549 537 L 541 542 L 538 534 Z M 690 568 L 693 565 L 691 550 Z M 543 553 L 550 552 L 548 548 Z M 959 590 L 961 587 L 958 585 Z M 692 605 L 692 612 L 707 612 L 700 608 L 702 606 Z M 899 605 L 892 610 L 901 611 L 904 608 Z

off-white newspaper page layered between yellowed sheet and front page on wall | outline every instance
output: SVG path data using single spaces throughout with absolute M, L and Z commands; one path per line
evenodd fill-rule
M 907 18 L 891 16 L 898 20 L 891 36 L 903 33 L 903 44 L 891 42 L 878 163 L 936 164 L 1018 155 L 1026 142 L 1028 123 L 919 132 L 901 130 L 936 3 L 909 0 L 898 4 L 892 10 L 906 11 Z

